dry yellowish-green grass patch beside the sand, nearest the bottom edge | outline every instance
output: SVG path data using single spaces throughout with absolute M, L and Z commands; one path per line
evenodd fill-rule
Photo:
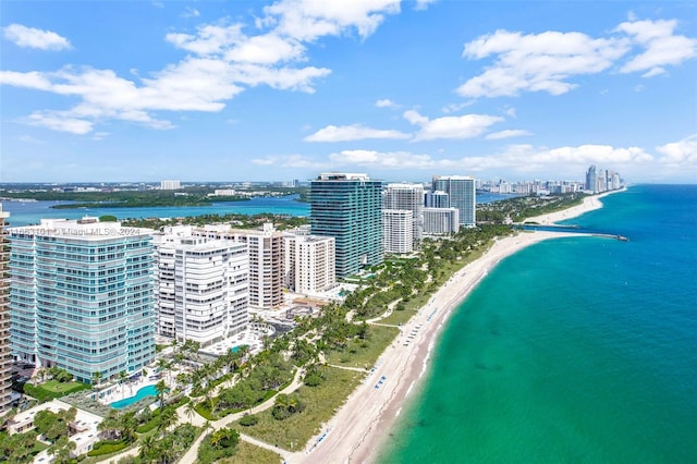
M 333 417 L 348 394 L 365 378 L 363 373 L 332 367 L 325 368 L 323 373 L 326 380 L 321 384 L 304 386 L 297 390 L 299 400 L 306 404 L 302 413 L 294 414 L 285 420 L 277 420 L 269 408 L 257 414 L 257 425 L 243 427 L 240 422 L 235 422 L 232 426 L 242 434 L 285 450 L 304 447 L 321 430 L 322 424 Z

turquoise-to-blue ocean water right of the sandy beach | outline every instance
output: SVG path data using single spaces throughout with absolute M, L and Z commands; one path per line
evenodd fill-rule
M 636 185 L 453 313 L 379 463 L 697 462 L 697 185 Z

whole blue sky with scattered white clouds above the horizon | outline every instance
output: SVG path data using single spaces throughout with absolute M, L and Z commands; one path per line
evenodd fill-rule
M 0 182 L 697 182 L 694 1 L 3 1 Z

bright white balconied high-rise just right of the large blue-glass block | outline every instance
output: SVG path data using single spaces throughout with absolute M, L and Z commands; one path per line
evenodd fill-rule
M 191 227 L 155 237 L 157 331 L 206 346 L 248 321 L 248 256 L 244 243 L 193 236 Z

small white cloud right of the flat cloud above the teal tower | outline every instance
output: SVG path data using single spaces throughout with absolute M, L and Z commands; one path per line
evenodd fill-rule
M 487 114 L 465 114 L 429 120 L 414 110 L 405 111 L 404 119 L 412 124 L 420 126 L 420 131 L 416 134 L 414 141 L 473 138 L 484 134 L 490 125 L 503 121 L 501 117 Z

